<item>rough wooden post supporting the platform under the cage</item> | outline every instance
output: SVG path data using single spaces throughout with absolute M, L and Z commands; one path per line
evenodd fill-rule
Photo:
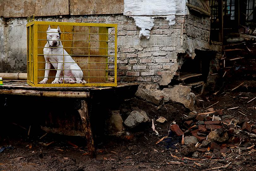
M 95 158 L 96 156 L 95 156 L 94 141 L 93 141 L 93 135 L 91 132 L 88 104 L 86 101 L 84 101 L 84 100 L 81 101 L 81 108 L 78 110 L 78 112 L 82 119 L 84 133 L 85 133 L 85 136 L 87 139 L 88 152 L 89 152 L 91 158 Z

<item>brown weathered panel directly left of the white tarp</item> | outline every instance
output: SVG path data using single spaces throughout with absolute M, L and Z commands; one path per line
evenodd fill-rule
M 123 14 L 123 0 L 70 0 L 70 15 Z

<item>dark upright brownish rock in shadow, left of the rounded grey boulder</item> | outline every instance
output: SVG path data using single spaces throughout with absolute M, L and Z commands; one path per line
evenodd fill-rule
M 111 134 L 122 134 L 123 133 L 123 119 L 119 114 L 119 110 L 111 111 L 110 118 L 107 119 L 108 131 Z

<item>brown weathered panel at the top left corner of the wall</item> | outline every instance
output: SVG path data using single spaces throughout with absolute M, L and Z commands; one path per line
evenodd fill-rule
M 69 0 L 2 0 L 0 3 L 0 16 L 4 18 L 28 17 L 33 14 L 35 16 L 68 15 Z

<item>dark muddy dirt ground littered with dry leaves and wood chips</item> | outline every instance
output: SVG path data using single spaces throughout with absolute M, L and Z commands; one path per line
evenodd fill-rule
M 236 48 L 236 47 L 234 47 Z M 252 51 L 254 45 L 249 47 Z M 254 48 L 255 49 L 255 48 Z M 246 53 L 247 54 L 247 53 Z M 244 119 L 248 118 L 251 125 L 256 121 L 255 56 L 249 56 L 247 61 L 236 63 L 229 68 L 226 77 L 218 80 L 216 90 L 206 95 L 198 96 L 195 111 L 207 112 L 206 107 L 218 102 L 212 107 L 214 110 L 223 110 L 225 115 Z M 244 63 L 250 63 L 250 70 L 243 68 Z M 253 66 L 251 66 L 253 65 Z M 240 66 L 241 71 L 237 71 Z M 222 75 L 225 69 L 219 71 Z M 243 85 L 231 91 L 237 85 Z M 220 91 L 219 91 L 220 90 Z M 216 95 L 214 92 L 219 91 Z M 239 107 L 232 110 L 228 108 Z M 163 116 L 167 119 L 164 124 L 156 123 L 156 135 L 148 124 L 137 130 L 127 130 L 126 136 L 116 137 L 99 134 L 95 137 L 96 158 L 90 159 L 86 148 L 86 139 L 48 133 L 40 130 L 39 125 L 33 125 L 28 136 L 29 124 L 15 120 L 19 113 L 3 113 L 12 115 L 9 120 L 1 119 L 0 147 L 6 146 L 0 152 L 1 171 L 96 171 L 96 170 L 256 170 L 255 150 L 228 152 L 224 156 L 211 154 L 193 158 L 181 154 L 180 138 L 173 138 L 171 142 L 155 144 L 163 136 L 169 134 L 170 124 L 175 121 L 182 125 L 182 118 L 189 111 L 177 103 L 167 103 L 157 107 L 142 100 L 132 98 L 126 100 L 120 107 L 123 119 L 127 111 L 140 108 L 150 119 Z M 241 114 L 241 113 L 243 114 Z M 246 116 L 245 116 L 246 115 Z M 1 116 L 2 117 L 2 116 Z M 4 118 L 4 117 L 3 117 Z M 26 119 L 26 116 L 24 116 Z M 18 124 L 18 125 L 17 125 Z M 92 124 L 97 124 L 95 121 Z M 23 128 L 22 128 L 23 127 Z M 101 130 L 100 130 L 101 131 Z M 102 130 L 103 131 L 103 130 Z M 40 139 L 40 137 L 42 137 Z M 174 144 L 177 144 L 174 146 Z M 251 151 L 252 150 L 252 151 Z M 210 152 L 211 153 L 211 152 Z M 216 168 L 220 167 L 220 168 Z

